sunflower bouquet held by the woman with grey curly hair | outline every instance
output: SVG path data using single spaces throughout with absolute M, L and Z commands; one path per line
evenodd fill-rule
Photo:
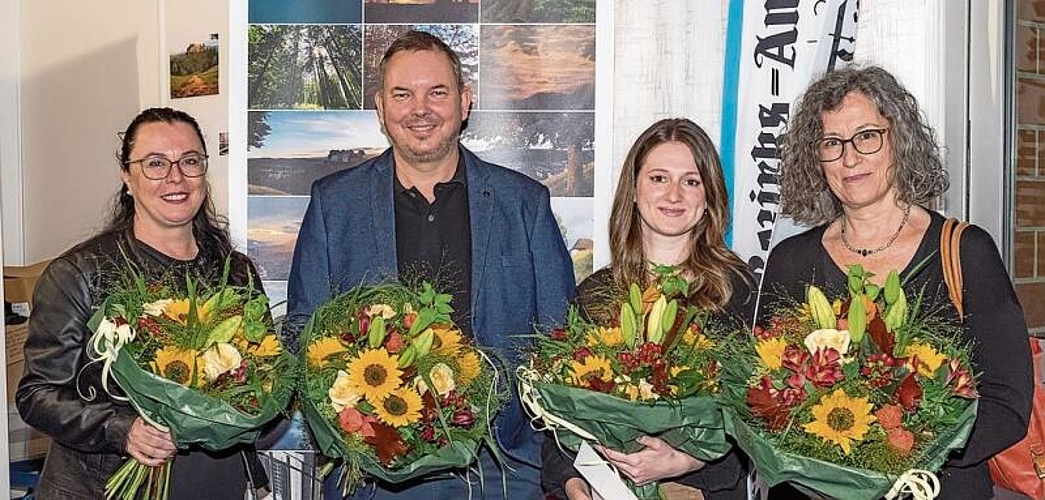
M 723 353 L 727 427 L 768 484 L 834 498 L 938 491 L 933 471 L 965 445 L 976 380 L 956 325 L 852 266 L 847 295 L 816 287 Z

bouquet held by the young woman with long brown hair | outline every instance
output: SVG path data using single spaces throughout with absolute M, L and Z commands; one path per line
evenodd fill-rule
M 675 268 L 654 271 L 653 286 L 631 285 L 610 299 L 619 313 L 602 324 L 575 305 L 563 327 L 537 336 L 517 370 L 521 400 L 573 451 L 588 440 L 633 453 L 643 448 L 636 438 L 652 435 L 715 460 L 729 450 L 713 397 L 719 329 L 707 312 L 687 304 L 689 282 Z M 656 484 L 631 488 L 641 498 L 659 495 Z

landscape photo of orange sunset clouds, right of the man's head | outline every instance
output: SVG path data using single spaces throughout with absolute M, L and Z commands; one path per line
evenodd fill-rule
M 595 26 L 483 25 L 484 110 L 594 110 Z

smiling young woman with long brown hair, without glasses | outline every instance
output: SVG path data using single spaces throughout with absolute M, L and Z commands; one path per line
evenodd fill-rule
M 729 197 L 715 144 L 693 121 L 659 120 L 635 139 L 621 168 L 609 222 L 610 267 L 581 282 L 575 301 L 589 319 L 608 323 L 624 290 L 648 286 L 651 267 L 664 264 L 689 279 L 690 303 L 749 321 L 751 280 L 747 266 L 725 246 L 728 226 Z M 704 463 L 655 436 L 640 444 L 645 448 L 630 454 L 600 450 L 638 485 L 669 481 L 700 490 L 709 500 L 747 498 L 745 465 L 735 452 Z M 541 458 L 549 494 L 590 498 L 590 487 L 554 438 L 544 439 Z

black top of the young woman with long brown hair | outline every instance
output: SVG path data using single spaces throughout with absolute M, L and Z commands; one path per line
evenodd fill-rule
M 726 304 L 721 319 L 750 321 L 754 314 L 754 298 L 750 285 L 743 277 L 736 276 L 733 287 L 733 298 Z M 603 268 L 577 287 L 574 302 L 580 308 L 582 315 L 594 321 L 603 322 L 606 320 L 604 314 L 608 314 L 606 313 L 608 310 L 603 305 L 607 299 L 613 298 L 612 290 L 613 273 L 609 268 Z M 707 462 L 699 471 L 668 480 L 696 487 L 707 500 L 745 500 L 747 481 L 744 478 L 747 476 L 747 459 L 741 453 L 734 447 L 725 456 Z M 540 480 L 544 492 L 554 498 L 566 498 L 564 490 L 566 481 L 581 477 L 573 465 L 576 455 L 563 453 L 556 446 L 554 438 L 545 436 L 540 456 L 543 462 Z

